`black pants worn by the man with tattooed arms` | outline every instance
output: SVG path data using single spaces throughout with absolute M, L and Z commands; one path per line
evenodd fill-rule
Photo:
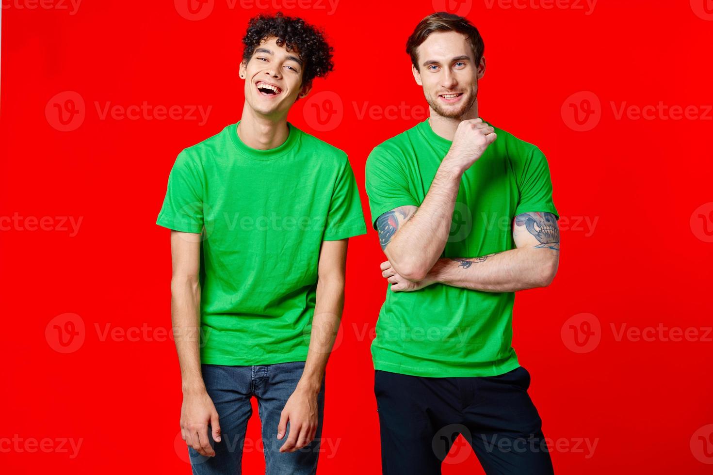
M 376 370 L 384 475 L 434 475 L 458 434 L 486 474 L 553 474 L 524 367 L 487 377 L 420 377 Z

